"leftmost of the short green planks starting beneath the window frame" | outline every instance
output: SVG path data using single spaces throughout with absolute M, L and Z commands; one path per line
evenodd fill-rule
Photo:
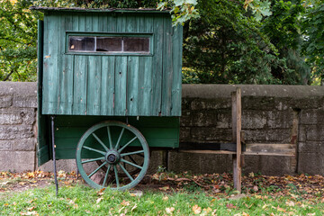
M 87 57 L 74 58 L 73 114 L 86 115 Z

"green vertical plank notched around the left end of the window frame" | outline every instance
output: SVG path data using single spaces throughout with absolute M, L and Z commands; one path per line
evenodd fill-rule
M 60 88 L 59 92 L 59 107 L 58 113 L 71 114 L 73 103 L 73 56 L 64 55 L 66 49 L 66 31 L 72 29 L 72 16 L 61 16 L 61 28 L 58 31 L 60 34 L 60 50 L 59 56 L 62 58 L 62 63 L 59 64 L 60 73 Z

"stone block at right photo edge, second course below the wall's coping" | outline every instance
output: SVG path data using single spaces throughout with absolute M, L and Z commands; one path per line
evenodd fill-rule
M 300 115 L 301 124 L 319 124 L 324 122 L 324 109 L 302 110 Z

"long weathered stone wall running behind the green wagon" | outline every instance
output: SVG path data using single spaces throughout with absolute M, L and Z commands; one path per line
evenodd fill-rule
M 237 85 L 242 88 L 242 130 L 247 143 L 294 144 L 295 157 L 245 156 L 243 172 L 268 175 L 324 175 L 324 87 Z M 183 85 L 181 142 L 231 141 L 230 92 L 235 85 Z M 36 84 L 0 83 L 0 170 L 36 167 Z M 230 155 L 154 152 L 152 170 L 222 173 L 232 170 Z M 41 169 L 51 170 L 51 163 Z M 76 169 L 74 160 L 58 169 Z

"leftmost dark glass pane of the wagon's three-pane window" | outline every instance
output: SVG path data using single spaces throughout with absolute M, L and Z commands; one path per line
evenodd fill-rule
M 94 37 L 69 37 L 69 51 L 94 51 Z

